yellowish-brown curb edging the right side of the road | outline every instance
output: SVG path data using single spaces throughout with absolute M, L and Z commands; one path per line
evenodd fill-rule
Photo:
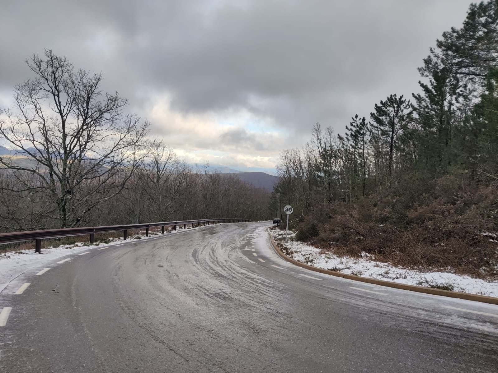
M 483 303 L 491 303 L 491 304 L 498 304 L 498 298 L 493 297 L 493 296 L 486 296 L 486 295 L 477 295 L 477 294 L 469 294 L 469 293 L 461 293 L 458 291 L 449 291 L 449 290 L 440 290 L 440 289 L 433 289 L 431 287 L 424 287 L 424 286 L 416 286 L 416 285 L 407 285 L 404 283 L 398 283 L 398 282 L 392 282 L 392 281 L 385 281 L 385 280 L 375 280 L 375 279 L 370 279 L 368 277 L 361 277 L 361 276 L 355 276 L 355 275 L 347 275 L 341 272 L 336 272 L 336 271 L 330 271 L 330 270 L 324 270 L 322 268 L 317 268 L 310 266 L 308 264 L 304 264 L 301 262 L 298 262 L 297 260 L 294 260 L 287 255 L 285 255 L 280 248 L 275 244 L 275 241 L 273 240 L 273 236 L 267 230 L 268 235 L 270 236 L 270 242 L 271 245 L 273 246 L 273 249 L 275 252 L 285 259 L 287 262 L 295 264 L 296 266 L 305 268 L 310 271 L 315 271 L 315 272 L 320 272 L 325 275 L 330 275 L 330 276 L 336 276 L 336 277 L 342 277 L 343 279 L 348 279 L 348 280 L 355 280 L 355 281 L 361 281 L 361 282 L 368 282 L 368 283 L 373 283 L 376 285 L 381 285 L 381 286 L 387 286 L 387 287 L 394 287 L 396 289 L 402 289 L 402 290 L 410 290 L 410 291 L 416 291 L 419 293 L 425 293 L 425 294 L 433 294 L 433 295 L 442 295 L 442 296 L 449 296 L 451 298 L 459 298 L 459 299 L 466 299 L 466 300 L 473 300 L 476 302 L 483 302 Z

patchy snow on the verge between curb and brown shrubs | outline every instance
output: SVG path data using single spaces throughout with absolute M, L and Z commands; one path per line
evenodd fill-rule
M 294 252 L 291 255 L 292 259 L 314 267 L 377 280 L 392 280 L 409 285 L 434 286 L 450 283 L 453 285 L 454 291 L 498 297 L 498 282 L 473 279 L 470 276 L 449 272 L 421 272 L 395 267 L 390 263 L 369 260 L 370 254 L 367 253 L 362 253 L 362 259 L 337 256 L 302 242 L 293 241 L 295 232 L 289 231 L 287 243 L 285 243 L 285 231 L 275 229 L 271 230 L 271 234 L 276 242 L 284 244 L 285 247 Z

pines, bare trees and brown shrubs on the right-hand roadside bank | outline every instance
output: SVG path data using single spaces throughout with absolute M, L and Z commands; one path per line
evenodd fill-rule
M 498 2 L 472 4 L 418 69 L 345 135 L 282 151 L 269 203 L 324 252 L 498 279 Z

